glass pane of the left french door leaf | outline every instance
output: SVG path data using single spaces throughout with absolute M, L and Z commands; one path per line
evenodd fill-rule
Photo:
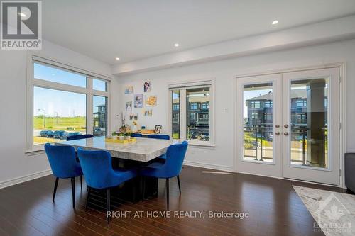
M 243 90 L 244 160 L 273 162 L 273 83 Z

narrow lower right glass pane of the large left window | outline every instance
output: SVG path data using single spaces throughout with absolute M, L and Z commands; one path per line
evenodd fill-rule
M 104 136 L 107 130 L 107 97 L 93 96 L 94 125 L 92 135 Z

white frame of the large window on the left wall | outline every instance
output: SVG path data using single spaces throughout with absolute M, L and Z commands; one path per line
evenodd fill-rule
M 78 94 L 86 95 L 86 127 L 87 134 L 93 133 L 94 127 L 94 115 L 93 115 L 93 96 L 106 96 L 107 97 L 107 133 L 110 133 L 111 120 L 109 111 L 111 111 L 111 78 L 106 75 L 96 74 L 84 69 L 72 66 L 67 63 L 53 60 L 49 57 L 43 57 L 43 55 L 37 55 L 34 53 L 28 53 L 27 55 L 27 89 L 26 89 L 26 150 L 25 153 L 31 154 L 32 152 L 42 152 L 44 150 L 43 145 L 33 145 L 33 99 L 34 99 L 34 87 L 40 87 L 45 89 L 54 89 L 59 91 L 68 91 Z M 35 79 L 34 77 L 34 64 L 43 64 L 46 67 L 53 67 L 55 69 L 62 69 L 71 73 L 84 75 L 87 79 L 86 88 L 80 86 L 73 86 L 69 84 L 61 84 L 58 82 L 50 82 L 43 79 Z M 107 82 L 107 91 L 98 91 L 92 88 L 92 80 L 100 79 Z

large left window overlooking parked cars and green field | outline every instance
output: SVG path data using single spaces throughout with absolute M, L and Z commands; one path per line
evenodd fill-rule
M 71 135 L 107 134 L 109 82 L 33 60 L 28 83 L 27 150 Z M 92 113 L 93 115 L 88 116 Z

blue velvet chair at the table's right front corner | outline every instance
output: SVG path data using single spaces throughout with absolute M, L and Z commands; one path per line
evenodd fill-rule
M 177 177 L 179 192 L 181 194 L 180 187 L 180 177 L 179 174 L 182 169 L 182 163 L 185 159 L 185 154 L 187 150 L 187 141 L 183 141 L 178 144 L 170 145 L 168 150 L 166 151 L 166 161 L 164 163 L 161 162 L 153 162 L 146 167 L 141 167 L 140 174 L 142 176 L 151 176 L 155 178 L 166 179 L 166 202 L 167 207 L 169 209 L 169 179 L 173 177 Z M 146 191 L 146 183 L 145 179 L 143 179 L 143 198 L 144 193 Z

